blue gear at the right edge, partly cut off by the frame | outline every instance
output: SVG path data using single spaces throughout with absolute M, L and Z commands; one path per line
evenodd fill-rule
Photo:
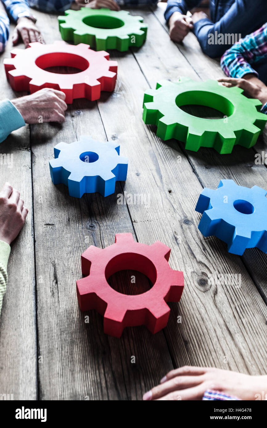
M 242 256 L 246 248 L 267 253 L 267 191 L 221 180 L 216 190 L 204 188 L 195 211 L 203 214 L 198 229 L 228 244 L 229 253 Z

